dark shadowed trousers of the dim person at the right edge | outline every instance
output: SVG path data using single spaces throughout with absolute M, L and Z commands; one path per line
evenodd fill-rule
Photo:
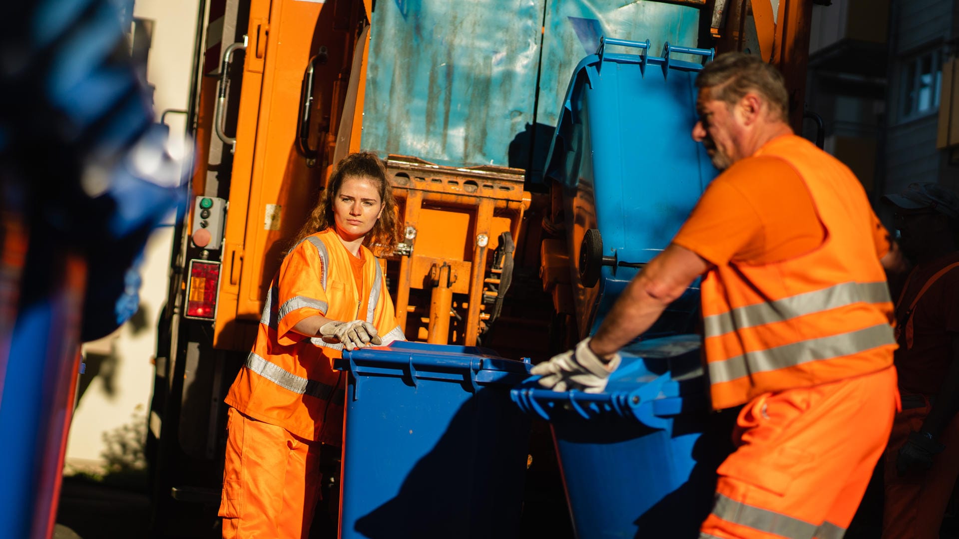
M 902 398 L 885 459 L 885 509 L 883 539 L 939 539 L 946 506 L 959 477 L 959 417 L 953 417 L 939 441 L 946 449 L 933 457 L 928 470 L 909 470 L 900 477 L 896 457 L 913 431 L 923 427 L 929 402 L 922 395 Z

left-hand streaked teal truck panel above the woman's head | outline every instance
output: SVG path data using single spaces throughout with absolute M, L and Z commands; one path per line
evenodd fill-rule
M 510 144 L 533 122 L 543 2 L 378 2 L 363 149 L 508 166 Z

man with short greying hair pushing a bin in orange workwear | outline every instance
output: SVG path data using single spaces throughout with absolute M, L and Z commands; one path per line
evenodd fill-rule
M 898 403 L 880 264 L 898 251 L 853 173 L 793 134 L 774 67 L 720 55 L 696 86 L 692 137 L 724 172 L 596 335 L 532 372 L 602 391 L 618 350 L 703 275 L 713 409 L 744 406 L 700 537 L 841 537 Z

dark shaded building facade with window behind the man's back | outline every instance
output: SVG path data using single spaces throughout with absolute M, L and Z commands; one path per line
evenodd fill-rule
M 954 0 L 813 6 L 807 110 L 823 118 L 825 149 L 874 203 L 914 181 L 959 192 L 959 84 L 950 79 L 959 75 L 951 69 L 957 35 Z

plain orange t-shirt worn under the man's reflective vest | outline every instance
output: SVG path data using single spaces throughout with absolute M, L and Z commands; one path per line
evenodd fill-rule
M 889 250 L 889 234 L 876 214 L 877 258 Z M 759 266 L 788 260 L 820 246 L 825 231 L 806 182 L 780 157 L 737 161 L 707 187 L 673 243 L 713 265 Z

